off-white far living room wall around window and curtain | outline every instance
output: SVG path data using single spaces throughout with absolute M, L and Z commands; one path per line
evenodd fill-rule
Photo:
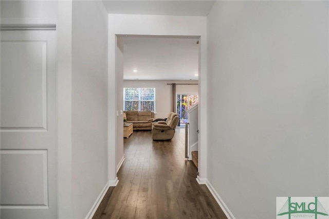
M 123 87 L 155 87 L 155 118 L 167 118 L 172 111 L 171 83 L 190 84 L 176 85 L 176 94 L 198 94 L 197 81 L 143 81 L 124 80 Z M 168 85 L 169 84 L 169 85 Z M 196 85 L 194 85 L 196 84 Z M 122 106 L 123 107 L 123 106 Z

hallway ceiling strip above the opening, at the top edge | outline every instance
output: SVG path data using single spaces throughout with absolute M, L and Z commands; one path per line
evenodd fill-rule
M 207 16 L 215 1 L 103 0 L 109 14 Z

